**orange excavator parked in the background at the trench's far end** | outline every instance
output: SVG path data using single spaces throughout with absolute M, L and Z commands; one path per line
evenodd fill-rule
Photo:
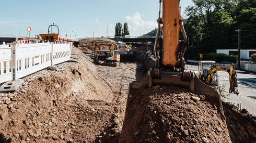
M 102 63 L 103 66 L 111 66 L 111 67 L 117 67 L 117 63 L 120 61 L 120 55 L 117 53 L 119 47 L 117 44 L 111 43 L 111 42 L 97 42 L 94 41 L 94 63 L 100 63 L 98 59 L 98 46 L 99 50 L 102 49 L 102 46 L 108 46 L 110 47 L 107 51 L 107 58 L 106 61 Z

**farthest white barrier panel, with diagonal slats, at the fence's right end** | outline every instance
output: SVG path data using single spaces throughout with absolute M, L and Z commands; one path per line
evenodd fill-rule
M 59 42 L 52 44 L 52 65 L 70 59 L 72 43 Z

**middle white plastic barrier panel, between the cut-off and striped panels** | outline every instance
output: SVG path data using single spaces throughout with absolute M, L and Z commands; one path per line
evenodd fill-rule
M 15 80 L 51 66 L 51 43 L 15 45 Z

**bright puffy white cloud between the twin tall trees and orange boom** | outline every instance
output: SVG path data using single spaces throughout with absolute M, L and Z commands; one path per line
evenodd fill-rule
M 154 21 L 144 21 L 142 20 L 143 15 L 139 14 L 136 12 L 133 17 L 126 16 L 124 19 L 128 23 L 128 27 L 130 30 L 137 31 L 138 29 L 141 30 L 149 30 L 149 29 L 154 29 L 157 27 L 157 22 L 156 20 Z

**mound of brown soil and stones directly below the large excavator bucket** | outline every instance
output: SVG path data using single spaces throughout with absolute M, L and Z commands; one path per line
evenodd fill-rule
M 132 89 L 119 142 L 231 142 L 215 101 L 174 86 Z

